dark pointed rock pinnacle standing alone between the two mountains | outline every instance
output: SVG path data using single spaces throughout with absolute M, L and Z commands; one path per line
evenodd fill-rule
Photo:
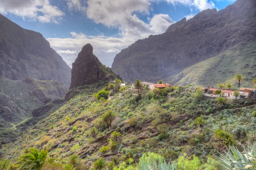
M 70 89 L 92 85 L 100 80 L 109 81 L 118 77 L 110 68 L 102 65 L 93 54 L 93 46 L 90 44 L 84 45 L 78 54 L 76 61 L 72 64 L 71 74 Z

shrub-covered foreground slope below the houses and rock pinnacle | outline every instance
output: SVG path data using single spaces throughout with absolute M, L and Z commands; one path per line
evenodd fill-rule
M 223 153 L 229 144 L 241 149 L 256 140 L 256 108 L 232 110 L 253 104 L 248 99 L 217 103 L 185 86 L 171 92 L 145 87 L 134 97 L 117 90 L 112 99 L 97 100 L 94 94 L 101 90 L 97 87 L 78 88 L 79 94 L 61 108 L 15 142 L 2 145 L 1 155 L 16 162 L 30 147 L 48 148 L 48 155 L 65 166 L 75 154 L 84 169 L 103 164 L 133 170 L 140 169 L 137 163 L 143 163 L 143 156 L 150 157 L 145 153 L 152 153 L 151 160 L 174 161 L 178 169 L 218 169 L 211 156 Z

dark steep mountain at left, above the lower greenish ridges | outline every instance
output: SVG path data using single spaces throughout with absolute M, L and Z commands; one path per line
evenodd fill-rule
M 42 34 L 0 14 L 0 76 L 12 80 L 58 80 L 69 88 L 71 68 Z

